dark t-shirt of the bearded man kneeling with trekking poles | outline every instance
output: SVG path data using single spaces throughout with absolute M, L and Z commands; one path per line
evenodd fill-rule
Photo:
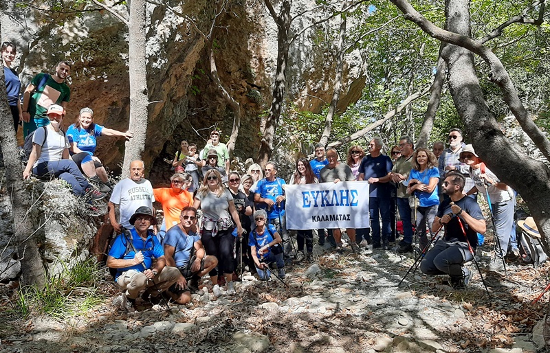
M 443 201 L 439 205 L 439 208 L 437 209 L 436 216 L 441 218 L 445 214 L 450 214 L 452 212 L 450 203 L 451 203 L 450 198 Z M 459 201 L 454 201 L 454 204 L 458 205 L 461 209 L 463 209 L 463 212 L 466 212 L 467 214 L 472 216 L 472 218 L 475 218 L 477 220 L 482 220 L 482 219 L 485 220 L 485 218 L 483 217 L 483 213 L 481 212 L 481 208 L 473 198 L 464 196 Z M 458 217 L 459 216 L 454 216 L 453 218 L 451 218 L 448 225 L 445 226 L 445 229 L 447 231 L 445 240 L 448 242 L 466 242 Z M 472 248 L 476 249 L 477 247 L 476 231 L 474 231 L 473 229 L 470 229 L 470 227 L 468 226 L 465 220 L 461 219 L 461 222 L 466 231 L 468 240 L 470 240 L 470 245 L 472 245 Z

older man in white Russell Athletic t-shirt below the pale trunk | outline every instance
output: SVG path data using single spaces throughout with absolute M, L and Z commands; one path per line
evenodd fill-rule
M 143 161 L 132 161 L 130 163 L 130 177 L 121 180 L 113 189 L 109 200 L 109 220 L 111 225 L 120 234 L 122 227 L 132 229 L 130 217 L 135 210 L 146 206 L 153 209 L 155 196 L 151 182 L 144 178 L 145 165 Z M 120 210 L 120 221 L 116 221 L 115 205 Z

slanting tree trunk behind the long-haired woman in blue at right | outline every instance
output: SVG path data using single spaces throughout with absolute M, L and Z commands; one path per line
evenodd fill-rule
M 430 87 L 430 100 L 428 100 L 428 108 L 426 108 L 424 121 L 422 122 L 422 127 L 420 128 L 417 144 L 415 145 L 417 148 L 426 148 L 428 146 L 430 133 L 434 127 L 435 114 L 437 113 L 437 109 L 439 109 L 439 102 L 441 102 L 441 89 L 443 89 L 443 82 L 445 82 L 445 73 L 447 71 L 447 63 L 443 60 L 443 58 L 441 58 L 441 50 L 444 46 L 445 44 L 441 43 L 434 82 L 432 82 L 432 87 Z

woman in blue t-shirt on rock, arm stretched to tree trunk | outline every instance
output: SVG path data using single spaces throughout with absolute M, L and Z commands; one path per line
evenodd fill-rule
M 110 192 L 112 189 L 107 172 L 100 159 L 94 156 L 96 152 L 98 136 L 118 136 L 129 140 L 133 133 L 126 131 L 122 133 L 111 128 L 104 128 L 94 124 L 94 111 L 89 108 L 80 109 L 80 114 L 75 124 L 67 129 L 67 138 L 71 144 L 70 152 L 73 161 L 78 168 L 100 188 L 101 192 Z

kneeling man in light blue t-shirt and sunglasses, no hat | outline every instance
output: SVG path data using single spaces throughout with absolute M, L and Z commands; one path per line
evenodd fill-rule
M 191 230 L 196 223 L 197 209 L 187 206 L 181 210 L 179 223 L 168 229 L 164 236 L 166 264 L 177 267 L 180 273 L 177 282 L 168 288 L 170 297 L 177 304 L 191 301 L 191 291 L 199 291 L 201 277 L 218 264 L 215 256 L 205 256 L 201 236 Z

